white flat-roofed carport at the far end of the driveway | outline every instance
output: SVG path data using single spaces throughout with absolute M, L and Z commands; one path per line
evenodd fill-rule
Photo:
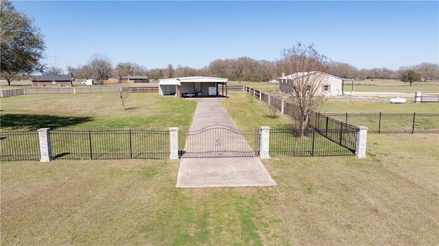
M 227 81 L 222 77 L 175 77 L 158 79 L 158 93 L 177 97 L 227 97 Z

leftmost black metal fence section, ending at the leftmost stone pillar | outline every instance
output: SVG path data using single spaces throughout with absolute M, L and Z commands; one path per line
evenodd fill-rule
M 0 132 L 0 161 L 40 160 L 37 131 Z

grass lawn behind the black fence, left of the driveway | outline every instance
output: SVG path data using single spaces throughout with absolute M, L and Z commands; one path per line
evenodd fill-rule
M 1 99 L 1 130 L 189 130 L 196 102 L 131 93 L 123 110 L 113 94 L 22 95 Z

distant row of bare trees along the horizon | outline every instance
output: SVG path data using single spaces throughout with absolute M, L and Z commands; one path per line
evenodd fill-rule
M 320 67 L 322 72 L 335 75 L 346 79 L 401 79 L 404 80 L 406 71 L 416 73 L 416 81 L 435 81 L 439 78 L 439 65 L 430 62 L 423 62 L 414 66 L 402 66 L 393 71 L 387 68 L 357 69 L 355 66 L 344 62 L 330 60 Z M 54 72 L 53 69 L 49 70 Z M 287 73 L 283 69 L 280 60 L 270 62 L 268 60 L 254 60 L 253 58 L 241 57 L 235 59 L 217 59 L 210 62 L 202 69 L 193 69 L 189 66 L 178 65 L 176 68 L 169 64 L 162 69 L 147 69 L 145 66 L 133 62 L 121 62 L 112 67 L 111 62 L 106 56 L 99 54 L 93 55 L 88 64 L 77 68 L 68 67 L 70 76 L 84 79 L 93 78 L 103 80 L 108 77 L 121 80 L 126 75 L 147 75 L 150 79 L 164 79 L 169 77 L 187 76 L 209 76 L 226 77 L 230 81 L 245 82 L 268 82 L 277 79 L 282 73 Z

